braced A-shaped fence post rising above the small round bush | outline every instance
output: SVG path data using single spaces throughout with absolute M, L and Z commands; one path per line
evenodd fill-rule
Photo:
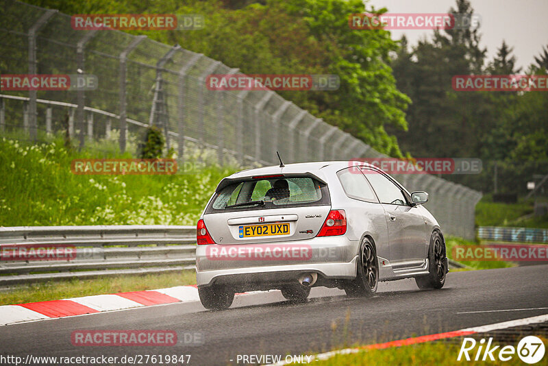
M 169 151 L 171 143 L 169 141 L 169 111 L 167 109 L 167 94 L 164 93 L 164 78 L 162 71 L 164 71 L 165 64 L 171 60 L 175 52 L 177 52 L 181 46 L 175 45 L 166 52 L 160 60 L 156 63 L 156 80 L 154 88 L 154 99 L 152 100 L 152 107 L 150 110 L 149 125 L 154 125 L 154 121 L 157 121 L 160 129 L 164 130 L 166 136 L 166 149 Z

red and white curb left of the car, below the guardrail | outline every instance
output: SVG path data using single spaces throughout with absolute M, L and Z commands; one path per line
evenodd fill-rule
M 250 293 L 238 295 L 249 295 Z M 29 304 L 3 305 L 0 306 L 0 326 L 21 323 L 23 321 L 73 317 L 101 313 L 103 311 L 172 304 L 175 302 L 199 301 L 198 288 L 196 285 L 192 285 L 110 295 L 75 297 L 66 300 L 31 302 Z

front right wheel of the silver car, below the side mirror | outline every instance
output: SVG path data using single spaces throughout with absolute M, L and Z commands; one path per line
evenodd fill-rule
M 447 252 L 443 236 L 437 230 L 432 233 L 428 247 L 428 271 L 427 276 L 415 278 L 416 285 L 421 290 L 441 289 L 445 284 L 447 274 Z

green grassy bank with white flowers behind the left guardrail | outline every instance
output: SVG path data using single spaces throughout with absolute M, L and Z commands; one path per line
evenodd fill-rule
M 67 149 L 62 138 L 38 145 L 0 138 L 0 225 L 195 225 L 216 184 L 237 170 L 193 165 L 176 175 L 71 172 L 73 159 L 104 158 L 98 151 Z

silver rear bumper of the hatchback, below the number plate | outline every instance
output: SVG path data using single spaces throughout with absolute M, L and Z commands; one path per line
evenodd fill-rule
M 327 279 L 355 278 L 359 244 L 341 235 L 268 245 L 198 245 L 197 284 L 259 289 L 296 282 L 307 272 Z M 297 255 L 284 255 L 288 253 Z

